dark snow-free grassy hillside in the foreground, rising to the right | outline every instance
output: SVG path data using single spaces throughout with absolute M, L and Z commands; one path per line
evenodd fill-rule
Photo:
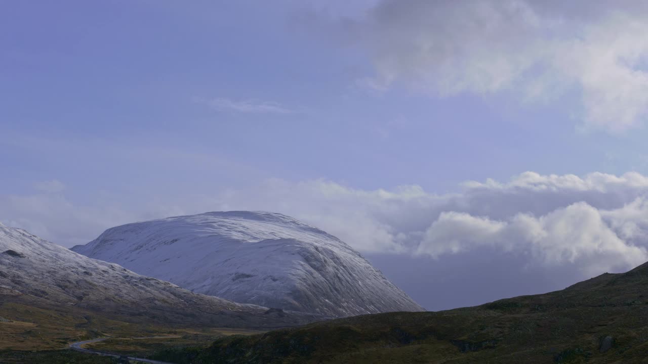
M 648 363 L 648 264 L 543 295 L 230 336 L 156 358 L 194 364 Z

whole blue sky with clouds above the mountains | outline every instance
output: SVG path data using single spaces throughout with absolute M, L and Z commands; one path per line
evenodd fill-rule
M 5 225 L 282 212 L 430 310 L 648 260 L 643 1 L 0 9 Z

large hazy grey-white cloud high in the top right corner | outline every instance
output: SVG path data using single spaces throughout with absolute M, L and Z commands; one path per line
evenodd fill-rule
M 384 0 L 341 19 L 371 58 L 371 89 L 434 97 L 513 93 L 577 115 L 585 130 L 645 121 L 648 5 L 641 1 Z M 345 40 L 346 41 L 346 40 Z M 561 102 L 577 95 L 579 102 Z

